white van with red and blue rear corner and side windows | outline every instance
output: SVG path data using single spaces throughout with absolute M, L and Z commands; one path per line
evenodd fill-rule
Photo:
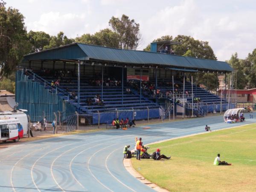
M 0 141 L 18 142 L 23 137 L 23 128 L 18 119 L 0 119 Z

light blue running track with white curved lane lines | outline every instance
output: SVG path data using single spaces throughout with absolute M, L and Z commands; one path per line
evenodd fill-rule
M 124 145 L 134 137 L 152 143 L 174 137 L 256 122 L 225 124 L 222 116 L 148 125 L 123 130 L 38 140 L 0 150 L 0 192 L 148 192 L 154 191 L 130 175 L 122 164 Z M 254 114 L 255 116 L 255 114 Z

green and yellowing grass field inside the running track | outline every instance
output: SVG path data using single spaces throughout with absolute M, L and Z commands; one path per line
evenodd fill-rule
M 256 191 L 256 124 L 150 145 L 171 160 L 132 159 L 134 169 L 169 191 Z M 232 166 L 214 166 L 217 154 Z

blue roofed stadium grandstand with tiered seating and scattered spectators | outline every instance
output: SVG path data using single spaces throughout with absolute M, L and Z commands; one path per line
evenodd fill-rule
M 16 73 L 16 102 L 32 121 L 42 114 L 76 111 L 92 123 L 204 116 L 231 107 L 197 86 L 198 73 L 232 72 L 222 61 L 174 55 L 174 42 L 151 43 L 151 52 L 74 43 L 24 55 Z M 160 112 L 161 111 L 161 112 Z M 54 116 L 48 116 L 48 121 Z

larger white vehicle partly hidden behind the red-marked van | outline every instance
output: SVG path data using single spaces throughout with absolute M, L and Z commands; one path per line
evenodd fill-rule
M 28 117 L 26 113 L 24 113 L 23 111 L 26 111 L 26 110 L 22 110 L 22 111 L 20 110 L 17 112 L 10 112 L 10 111 L 0 112 L 0 119 L 8 117 L 8 118 L 20 120 L 20 123 L 23 127 L 23 135 L 25 135 L 27 134 L 27 131 L 28 131 Z

